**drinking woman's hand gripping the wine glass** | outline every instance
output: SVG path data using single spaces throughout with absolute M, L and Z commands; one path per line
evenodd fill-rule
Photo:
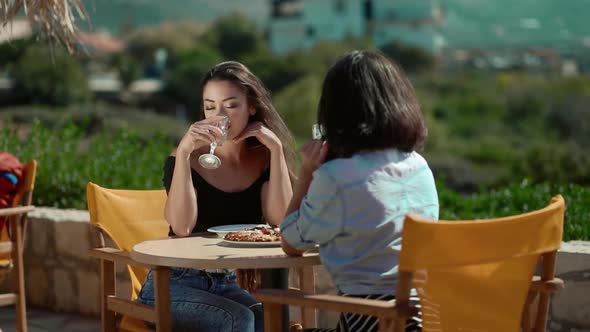
M 177 153 L 182 153 L 188 157 L 193 151 L 222 139 L 224 133 L 217 126 L 217 123 L 224 118 L 226 117 L 213 116 L 193 123 L 180 140 Z

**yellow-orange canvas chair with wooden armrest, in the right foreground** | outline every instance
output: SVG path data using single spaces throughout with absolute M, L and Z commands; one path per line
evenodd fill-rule
M 556 196 L 543 209 L 506 218 L 433 222 L 406 216 L 396 303 L 261 290 L 256 296 L 265 305 L 265 329 L 276 330 L 280 304 L 289 304 L 376 316 L 379 331 L 403 331 L 417 312 L 409 304 L 414 287 L 425 332 L 545 331 L 551 293 L 563 287 L 554 274 L 564 212 L 565 202 Z M 541 276 L 533 277 L 540 259 Z M 533 303 L 536 310 L 530 310 Z

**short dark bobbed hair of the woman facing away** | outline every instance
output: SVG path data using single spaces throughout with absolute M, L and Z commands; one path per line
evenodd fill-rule
M 376 51 L 353 51 L 330 68 L 318 123 L 330 146 L 328 160 L 388 148 L 410 152 L 428 134 L 412 84 Z

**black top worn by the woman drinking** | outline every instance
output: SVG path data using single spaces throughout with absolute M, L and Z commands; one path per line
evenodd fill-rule
M 166 158 L 164 177 L 162 178 L 166 193 L 170 191 L 175 163 L 175 157 Z M 213 187 L 192 168 L 191 175 L 193 186 L 197 190 L 199 211 L 197 225 L 193 228 L 192 233 L 206 232 L 209 227 L 221 225 L 263 223 L 260 193 L 262 185 L 270 178 L 270 169 L 264 171 L 248 188 L 231 193 Z M 172 228 L 170 228 L 168 235 L 175 235 Z

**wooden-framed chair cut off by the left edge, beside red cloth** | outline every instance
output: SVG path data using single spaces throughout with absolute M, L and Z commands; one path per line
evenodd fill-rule
M 12 267 L 15 272 L 14 292 L 0 294 L 0 306 L 16 306 L 16 326 L 19 332 L 27 331 L 23 237 L 26 230 L 27 213 L 35 209 L 31 205 L 31 201 L 36 173 L 37 161 L 30 160 L 25 164 L 22 182 L 14 197 L 12 207 L 0 209 L 0 218 L 9 218 L 8 227 L 4 227 L 0 233 L 0 281 L 2 276 L 7 275 Z M 10 230 L 10 234 L 8 230 Z

